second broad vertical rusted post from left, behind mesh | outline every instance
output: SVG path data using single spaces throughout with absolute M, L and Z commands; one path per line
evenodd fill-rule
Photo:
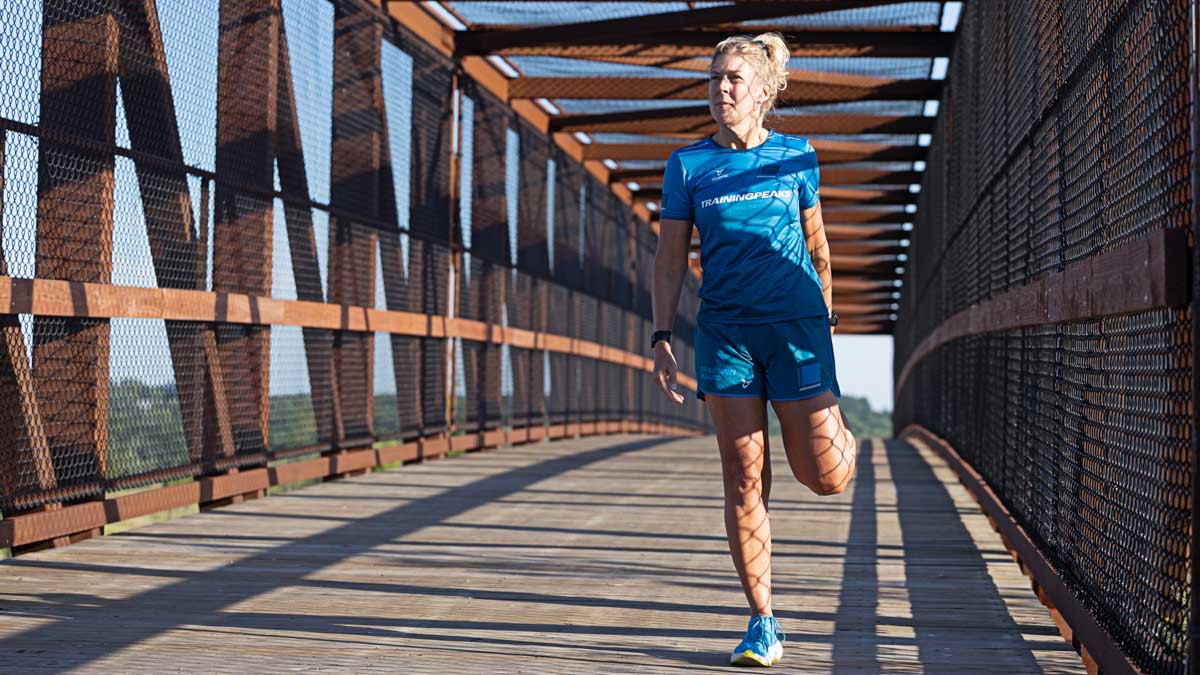
M 278 0 L 221 0 L 217 49 L 217 175 L 259 191 L 274 189 L 278 97 Z M 247 92 L 254 92 L 247 95 Z M 212 245 L 212 289 L 269 297 L 271 293 L 272 201 L 217 183 Z M 217 327 L 227 378 L 229 428 L 234 452 L 254 454 L 268 447 L 270 333 L 259 325 Z M 216 401 L 212 401 L 216 404 Z M 210 405 L 216 416 L 220 406 Z M 222 420 L 210 419 L 217 429 Z M 210 438 L 210 449 L 218 441 Z M 221 452 L 228 452 L 220 448 Z

